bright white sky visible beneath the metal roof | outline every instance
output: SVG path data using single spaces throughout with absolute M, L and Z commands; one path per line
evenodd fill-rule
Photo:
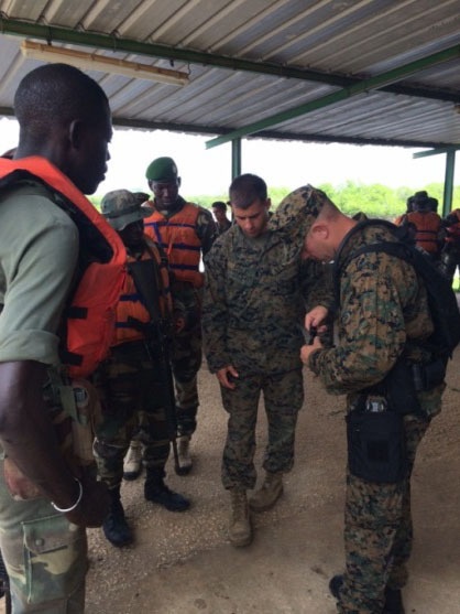
M 18 142 L 14 119 L 0 119 L 0 153 Z M 211 137 L 155 130 L 116 129 L 110 144 L 109 170 L 97 194 L 110 190 L 146 191 L 145 169 L 161 155 L 174 158 L 182 177 L 183 196 L 227 194 L 231 182 L 231 146 L 207 150 Z M 346 181 L 382 183 L 418 190 L 442 183 L 445 154 L 413 159 L 415 149 L 372 146 L 318 144 L 250 139 L 242 141 L 242 172 L 262 176 L 272 187 L 295 190 L 306 183 L 340 185 Z M 460 183 L 457 170 L 456 185 Z

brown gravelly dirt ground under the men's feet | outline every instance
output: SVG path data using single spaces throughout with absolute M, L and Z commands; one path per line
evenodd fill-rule
M 450 363 L 443 411 L 420 445 L 413 477 L 415 547 L 406 612 L 453 614 L 460 602 L 460 352 Z M 274 509 L 253 518 L 245 549 L 227 541 L 220 484 L 226 416 L 217 380 L 200 371 L 194 471 L 167 482 L 193 507 L 171 513 L 143 498 L 143 478 L 122 487 L 135 545 L 117 549 L 89 531 L 88 614 L 332 614 L 328 580 L 342 569 L 343 401 L 306 373 L 296 464 Z M 261 410 L 258 466 L 265 442 Z

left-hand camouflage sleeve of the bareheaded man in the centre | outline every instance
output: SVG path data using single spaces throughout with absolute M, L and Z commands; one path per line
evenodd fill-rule
M 227 351 L 228 306 L 226 300 L 227 258 L 221 236 L 205 258 L 205 289 L 202 297 L 202 345 L 209 370 L 218 371 L 230 365 Z

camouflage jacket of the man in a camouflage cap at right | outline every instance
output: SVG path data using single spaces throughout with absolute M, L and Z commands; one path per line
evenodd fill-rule
M 340 309 L 336 347 L 310 355 L 308 366 L 329 392 L 359 391 L 382 380 L 403 352 L 424 360 L 420 342 L 432 332 L 426 290 L 413 267 L 384 252 L 353 251 L 394 240 L 383 227 L 350 237 L 339 257 Z

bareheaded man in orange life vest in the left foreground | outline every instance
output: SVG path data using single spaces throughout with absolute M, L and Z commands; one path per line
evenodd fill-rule
M 89 375 L 105 354 L 124 276 L 122 243 L 84 196 L 103 180 L 112 127 L 103 90 L 65 64 L 25 75 L 14 111 L 19 146 L 0 160 L 0 547 L 15 614 L 76 614 L 85 527 L 109 500 L 65 445 L 63 392 L 74 399 L 69 366 Z

